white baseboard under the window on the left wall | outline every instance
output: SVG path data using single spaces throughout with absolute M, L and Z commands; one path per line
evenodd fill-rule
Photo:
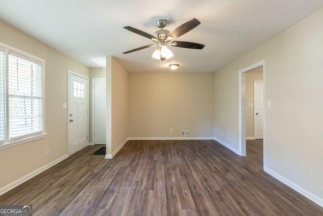
M 53 165 L 56 165 L 57 163 L 59 163 L 59 162 L 61 162 L 61 161 L 65 160 L 65 159 L 66 159 L 66 158 L 68 158 L 68 157 L 69 157 L 69 156 L 66 154 L 66 155 L 64 155 L 64 156 L 62 156 L 62 157 L 60 157 L 60 158 L 58 158 L 58 159 L 56 159 L 56 160 L 54 160 L 54 161 L 51 161 L 50 163 L 48 163 L 48 164 L 46 164 L 46 165 L 44 165 L 44 166 L 40 167 L 39 169 L 36 169 L 35 171 L 30 172 L 30 174 L 27 174 L 26 176 L 24 176 L 24 177 L 22 177 L 22 178 L 20 178 L 20 179 L 18 179 L 18 180 L 16 180 L 16 181 L 14 181 L 14 182 L 10 183 L 9 185 L 7 185 L 7 186 L 5 186 L 5 187 L 1 188 L 1 189 L 0 189 L 0 195 L 2 195 L 2 194 L 4 194 L 4 193 L 6 193 L 6 192 L 8 192 L 8 191 L 10 191 L 10 190 L 12 190 L 12 189 L 14 189 L 14 188 L 15 188 L 15 187 L 17 187 L 18 185 L 21 185 L 22 183 L 26 182 L 27 180 L 29 180 L 29 179 L 33 178 L 34 176 L 36 176 L 36 175 L 40 174 L 41 172 L 43 172 L 43 171 L 45 171 L 46 169 L 48 169 L 48 168 L 52 167 Z

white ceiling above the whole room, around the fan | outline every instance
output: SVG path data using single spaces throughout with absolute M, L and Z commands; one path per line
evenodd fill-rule
M 89 67 L 112 55 L 128 72 L 214 72 L 323 7 L 323 0 L 0 0 L 0 20 Z M 157 19 L 167 30 L 197 18 L 201 24 L 177 40 L 203 50 L 170 47 L 174 57 L 151 58 L 155 47 L 123 26 L 152 34 Z M 1 30 L 1 29 L 0 29 Z

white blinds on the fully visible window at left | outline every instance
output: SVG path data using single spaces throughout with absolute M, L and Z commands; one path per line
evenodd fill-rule
M 42 133 L 41 64 L 9 54 L 9 137 L 10 141 Z

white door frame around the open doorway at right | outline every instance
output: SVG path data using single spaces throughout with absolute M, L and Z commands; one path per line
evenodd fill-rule
M 239 155 L 246 156 L 246 72 L 262 66 L 263 80 L 263 166 L 265 166 L 265 60 L 239 70 Z

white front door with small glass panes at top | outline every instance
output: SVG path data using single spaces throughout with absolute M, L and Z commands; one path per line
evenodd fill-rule
M 88 146 L 88 78 L 69 70 L 69 155 Z

